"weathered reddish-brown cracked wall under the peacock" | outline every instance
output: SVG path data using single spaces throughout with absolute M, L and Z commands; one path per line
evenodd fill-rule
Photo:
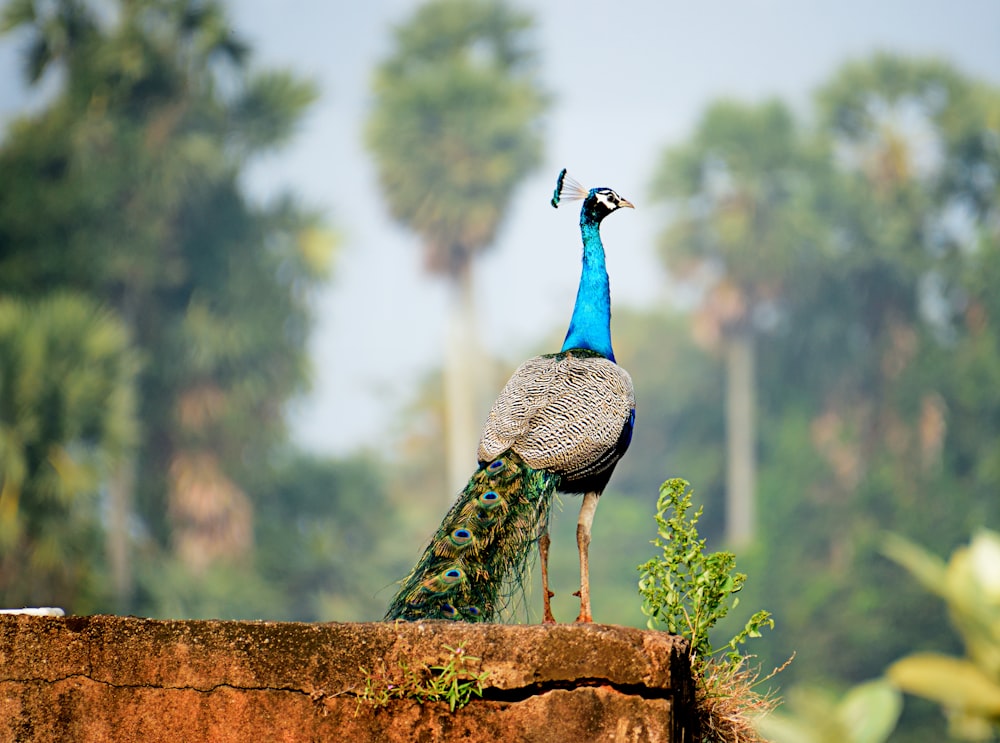
M 483 699 L 359 705 L 463 643 Z M 691 704 L 683 641 L 624 627 L 0 616 L 0 741 L 680 743 Z

